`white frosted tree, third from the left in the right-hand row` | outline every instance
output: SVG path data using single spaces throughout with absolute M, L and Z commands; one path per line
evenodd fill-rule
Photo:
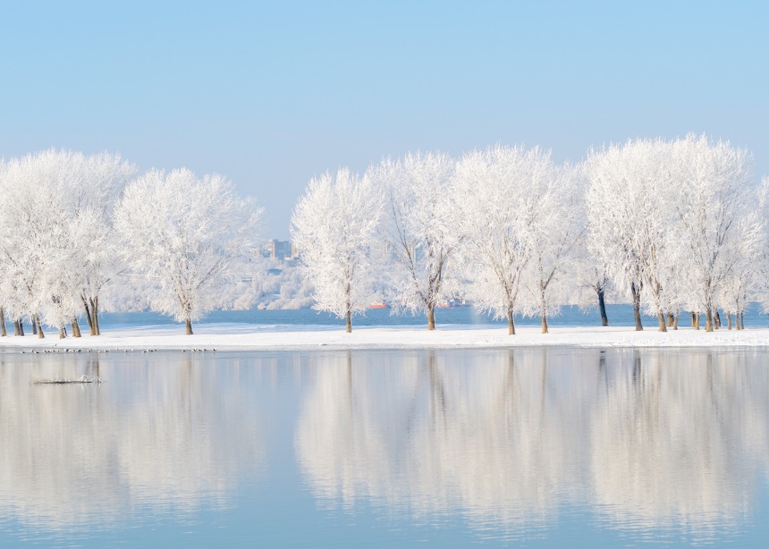
M 531 258 L 537 202 L 552 180 L 550 154 L 539 148 L 495 146 L 462 156 L 456 168 L 457 224 L 467 295 L 482 311 L 520 313 L 521 277 Z M 546 230 L 546 227 L 544 227 Z

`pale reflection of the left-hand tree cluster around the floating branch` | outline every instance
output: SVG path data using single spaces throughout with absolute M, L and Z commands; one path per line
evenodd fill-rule
M 0 515 L 108 527 L 138 507 L 222 508 L 260 473 L 263 427 L 237 367 L 200 367 L 191 353 L 116 354 L 0 354 Z M 106 383 L 30 384 L 82 374 Z

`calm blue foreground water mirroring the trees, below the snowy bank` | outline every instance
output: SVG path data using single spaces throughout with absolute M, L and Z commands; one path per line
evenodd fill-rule
M 763 546 L 767 363 L 7 351 L 0 546 Z

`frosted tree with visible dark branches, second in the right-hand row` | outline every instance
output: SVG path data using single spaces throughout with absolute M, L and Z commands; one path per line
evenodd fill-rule
M 393 265 L 386 268 L 397 308 L 427 314 L 435 330 L 435 307 L 452 297 L 450 261 L 460 240 L 452 199 L 454 161 L 444 153 L 385 159 L 366 177 L 385 196 L 380 232 Z

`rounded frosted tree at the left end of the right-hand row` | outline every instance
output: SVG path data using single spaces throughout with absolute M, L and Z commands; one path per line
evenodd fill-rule
M 313 307 L 344 318 L 347 332 L 352 315 L 376 299 L 372 249 L 383 207 L 370 180 L 342 168 L 335 177 L 310 180 L 292 215 L 292 240 L 313 285 Z

